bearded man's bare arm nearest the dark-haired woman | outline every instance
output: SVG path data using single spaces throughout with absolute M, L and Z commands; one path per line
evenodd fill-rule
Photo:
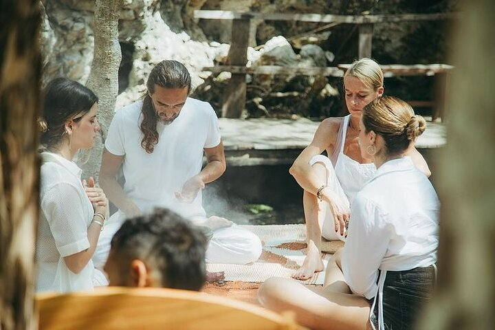
M 132 217 L 141 214 L 141 210 L 126 196 L 122 186 L 117 181 L 116 175 L 123 161 L 124 156 L 113 155 L 105 149 L 100 167 L 100 186 L 119 210 Z

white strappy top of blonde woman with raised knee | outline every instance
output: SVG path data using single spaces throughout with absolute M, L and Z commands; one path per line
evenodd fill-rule
M 355 195 L 362 189 L 364 184 L 366 184 L 366 181 L 375 175 L 376 167 L 373 163 L 361 164 L 360 162 L 356 162 L 354 159 L 344 154 L 345 136 L 350 119 L 351 115 L 346 115 L 342 120 L 331 161 L 335 168 L 340 186 L 342 186 L 342 189 L 347 195 L 349 203 L 352 203 Z M 337 159 L 334 160 L 334 155 L 336 155 L 336 150 L 338 149 L 340 150 L 338 151 Z

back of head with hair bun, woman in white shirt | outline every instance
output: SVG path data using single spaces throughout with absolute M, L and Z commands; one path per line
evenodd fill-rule
M 374 131 L 384 140 L 388 154 L 406 151 L 426 129 L 426 121 L 409 104 L 393 96 L 377 98 L 362 111 L 366 133 Z

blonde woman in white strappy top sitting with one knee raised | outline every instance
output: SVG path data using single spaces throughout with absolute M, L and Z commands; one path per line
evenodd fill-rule
M 370 58 L 352 63 L 344 74 L 345 102 L 349 115 L 322 121 L 313 141 L 297 157 L 289 172 L 304 189 L 307 256 L 293 275 L 307 280 L 323 270 L 321 237 L 344 240 L 344 231 L 352 217 L 349 212 L 355 194 L 375 174 L 371 158 L 360 153 L 358 135 L 362 109 L 384 94 L 384 76 L 380 65 Z M 321 155 L 327 151 L 328 157 Z M 414 143 L 404 151 L 427 176 L 428 164 Z

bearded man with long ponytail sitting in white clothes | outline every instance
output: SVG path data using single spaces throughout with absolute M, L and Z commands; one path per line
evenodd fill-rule
M 261 255 L 256 234 L 221 217 L 206 217 L 201 190 L 225 171 L 217 114 L 208 102 L 188 97 L 188 69 L 177 61 L 157 63 L 140 101 L 115 113 L 100 168 L 100 184 L 119 208 L 98 244 L 96 264 L 104 263 L 108 237 L 126 217 L 169 208 L 213 236 L 206 250 L 210 263 L 246 264 Z M 203 155 L 206 166 L 203 167 Z M 122 188 L 115 176 L 122 167 Z

